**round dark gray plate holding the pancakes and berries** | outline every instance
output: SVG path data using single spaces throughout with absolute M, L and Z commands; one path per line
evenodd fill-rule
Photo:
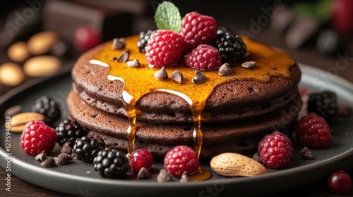
M 300 86 L 309 87 L 312 91 L 334 91 L 340 103 L 353 106 L 353 84 L 340 77 L 328 75 L 328 72 L 301 64 L 303 71 Z M 0 98 L 0 114 L 10 106 L 23 105 L 23 111 L 30 111 L 32 103 L 42 95 L 56 98 L 63 110 L 62 118 L 67 117 L 65 99 L 71 89 L 70 72 L 47 80 L 37 81 L 18 87 Z M 213 173 L 213 177 L 204 182 L 189 182 L 181 184 L 169 182 L 159 184 L 157 173 L 162 167 L 161 160 L 155 161 L 152 168 L 152 179 L 148 180 L 116 180 L 103 179 L 93 170 L 93 165 L 77 161 L 60 167 L 40 167 L 40 162 L 31 155 L 26 155 L 20 149 L 19 135 L 11 133 L 12 153 L 11 161 L 6 152 L 3 127 L 5 118 L 1 117 L 0 125 L 0 165 L 11 169 L 11 174 L 32 184 L 47 189 L 71 194 L 73 196 L 225 196 L 233 193 L 235 196 L 270 195 L 287 189 L 293 189 L 315 182 L 333 170 L 348 170 L 353 167 L 353 117 L 340 118 L 332 122 L 333 142 L 329 148 L 312 150 L 316 159 L 301 160 L 298 146 L 289 166 L 281 170 L 268 170 L 267 174 L 257 177 L 220 177 Z M 59 147 L 53 154 L 59 153 Z M 202 161 L 203 167 L 209 168 L 209 161 Z M 212 172 L 212 170 L 211 170 Z

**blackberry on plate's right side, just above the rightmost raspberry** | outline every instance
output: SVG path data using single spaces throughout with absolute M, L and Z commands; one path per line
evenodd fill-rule
M 331 91 L 311 94 L 308 101 L 308 112 L 316 113 L 325 120 L 330 120 L 338 113 L 337 96 Z

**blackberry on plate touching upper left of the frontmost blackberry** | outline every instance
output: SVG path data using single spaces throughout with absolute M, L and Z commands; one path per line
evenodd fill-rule
M 72 151 L 78 160 L 90 162 L 104 148 L 105 143 L 103 139 L 96 136 L 83 136 L 80 139 L 76 139 Z

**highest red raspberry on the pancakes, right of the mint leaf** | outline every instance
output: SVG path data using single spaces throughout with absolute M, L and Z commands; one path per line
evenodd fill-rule
M 197 12 L 187 13 L 181 20 L 181 36 L 188 43 L 187 51 L 199 44 L 212 44 L 217 37 L 215 18 Z

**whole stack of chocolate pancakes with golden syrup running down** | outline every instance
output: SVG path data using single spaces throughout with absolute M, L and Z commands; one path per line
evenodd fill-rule
M 169 78 L 156 80 L 160 68 L 146 63 L 136 46 L 138 35 L 126 37 L 123 49 L 101 44 L 73 67 L 69 116 L 108 146 L 126 152 L 146 148 L 164 157 L 174 146 L 187 145 L 201 158 L 224 152 L 251 155 L 265 134 L 293 132 L 301 108 L 301 71 L 285 51 L 243 40 L 249 56 L 231 63 L 233 74 L 201 71 L 206 76 L 202 84 L 191 82 L 195 70 L 182 64 L 166 67 Z M 128 61 L 137 58 L 140 66 L 116 61 L 126 50 Z M 243 68 L 246 61 L 256 64 Z M 171 79 L 176 70 L 184 83 Z

